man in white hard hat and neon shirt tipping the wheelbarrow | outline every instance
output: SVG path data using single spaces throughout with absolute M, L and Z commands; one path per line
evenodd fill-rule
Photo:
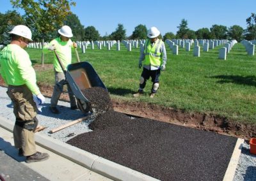
M 56 53 L 60 57 L 60 60 L 64 66 L 64 69 L 67 69 L 68 64 L 71 64 L 72 61 L 72 51 L 71 48 L 77 48 L 77 44 L 72 42 L 70 38 L 73 36 L 72 30 L 68 25 L 63 25 L 61 29 L 58 30 L 60 37 L 55 38 L 52 40 L 49 45 L 44 46 L 44 52 L 46 53 L 47 50 L 53 51 L 56 50 Z M 58 62 L 58 59 L 54 55 L 54 73 L 55 73 L 55 86 L 52 93 L 51 98 L 51 106 L 50 110 L 52 113 L 58 114 L 60 111 L 57 109 L 58 100 L 60 99 L 61 92 L 63 91 L 63 85 L 65 84 L 65 74 L 63 73 L 61 66 Z M 76 98 L 70 89 L 70 86 L 67 84 L 68 87 L 68 96 L 70 99 L 70 108 L 72 110 L 77 109 Z

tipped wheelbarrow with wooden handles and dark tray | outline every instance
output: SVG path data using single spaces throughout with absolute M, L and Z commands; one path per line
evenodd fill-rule
M 91 87 L 102 87 L 103 89 L 106 89 L 106 91 L 108 91 L 107 87 L 104 85 L 99 75 L 93 68 L 92 64 L 85 61 L 69 64 L 67 66 L 67 71 L 65 71 L 60 57 L 56 53 L 56 50 L 54 50 L 54 54 L 56 55 L 57 60 L 60 63 L 61 69 L 65 74 L 68 85 L 70 86 L 74 96 L 76 97 L 77 106 L 83 113 L 92 112 L 90 101 L 84 96 L 82 91 Z M 77 60 L 79 60 L 78 54 Z

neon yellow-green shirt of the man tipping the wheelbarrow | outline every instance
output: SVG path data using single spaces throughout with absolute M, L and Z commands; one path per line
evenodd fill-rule
M 56 53 L 60 57 L 60 60 L 64 66 L 64 69 L 67 70 L 68 64 L 71 64 L 71 61 L 72 61 L 71 48 L 74 48 L 73 42 L 70 39 L 68 41 L 61 41 L 60 37 L 55 38 L 49 43 L 49 45 L 44 46 L 43 48 L 44 53 L 49 52 L 48 47 L 51 45 L 54 45 L 54 47 L 56 48 Z M 55 55 L 54 55 L 53 66 L 56 71 L 63 72 Z

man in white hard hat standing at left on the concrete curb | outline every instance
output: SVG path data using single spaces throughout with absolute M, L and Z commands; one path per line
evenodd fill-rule
M 12 40 L 0 53 L 0 73 L 8 85 L 7 94 L 12 100 L 16 117 L 13 127 L 14 145 L 19 148 L 19 156 L 26 156 L 27 163 L 44 161 L 49 155 L 36 152 L 34 140 L 38 120 L 33 94 L 40 105 L 44 104 L 45 98 L 36 85 L 35 70 L 24 50 L 32 41 L 32 34 L 26 25 L 17 25 L 8 33 Z

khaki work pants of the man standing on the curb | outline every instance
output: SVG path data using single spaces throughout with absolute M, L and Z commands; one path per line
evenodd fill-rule
M 8 96 L 13 103 L 13 113 L 16 120 L 27 121 L 36 117 L 36 104 L 33 95 L 26 85 L 8 86 Z M 15 124 L 13 127 L 13 138 L 15 148 L 22 148 L 24 156 L 36 153 L 36 144 L 33 130 L 24 129 Z

